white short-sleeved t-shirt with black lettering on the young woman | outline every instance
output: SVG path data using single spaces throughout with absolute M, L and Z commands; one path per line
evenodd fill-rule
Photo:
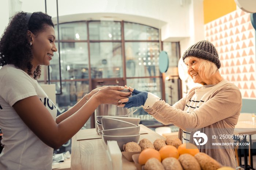
M 38 82 L 14 65 L 3 66 L 0 69 L 0 128 L 4 144 L 1 170 L 52 169 L 53 148 L 27 127 L 12 107 L 30 96 L 38 96 L 56 120 L 57 109 Z

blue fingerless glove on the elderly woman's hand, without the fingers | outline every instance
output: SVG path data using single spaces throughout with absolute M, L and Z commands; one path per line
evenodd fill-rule
M 132 96 L 128 97 L 128 102 L 124 103 L 124 108 L 140 107 L 141 105 L 144 106 L 147 100 L 147 93 L 148 92 L 134 89 L 132 92 Z

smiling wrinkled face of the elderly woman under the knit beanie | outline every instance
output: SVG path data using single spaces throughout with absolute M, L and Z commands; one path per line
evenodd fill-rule
M 200 62 L 202 62 L 202 60 L 197 57 L 188 57 L 185 60 L 185 64 L 188 68 L 188 75 L 193 79 L 193 82 L 205 85 L 206 78 L 202 77 L 202 70 L 199 70 Z

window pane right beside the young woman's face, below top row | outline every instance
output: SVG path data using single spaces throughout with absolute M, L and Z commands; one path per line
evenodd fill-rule
M 58 43 L 56 43 L 56 46 L 58 46 Z M 62 80 L 89 78 L 89 59 L 86 42 L 60 43 L 60 54 Z M 50 62 L 51 80 L 60 80 L 58 56 L 58 52 L 54 53 Z

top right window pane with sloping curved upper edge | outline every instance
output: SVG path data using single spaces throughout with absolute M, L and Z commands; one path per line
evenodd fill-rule
M 137 23 L 124 23 L 125 40 L 159 40 L 157 28 Z

